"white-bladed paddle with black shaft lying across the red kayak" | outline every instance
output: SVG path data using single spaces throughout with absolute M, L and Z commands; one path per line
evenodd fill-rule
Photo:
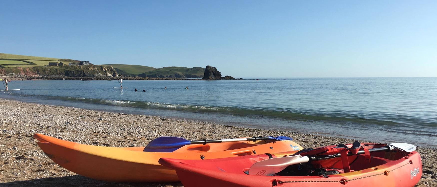
M 375 152 L 375 151 L 390 151 L 393 149 L 401 149 L 406 152 L 413 152 L 416 150 L 416 146 L 411 145 L 409 143 L 391 143 L 388 144 L 388 146 L 385 147 L 379 147 L 374 149 L 369 149 L 369 152 Z M 364 150 L 358 151 L 357 154 L 364 154 Z M 348 153 L 347 156 L 350 155 L 357 155 Z M 260 162 L 254 163 L 250 169 L 249 174 L 250 175 L 271 175 L 277 172 L 280 172 L 284 170 L 286 167 L 298 163 L 306 163 L 309 162 L 309 160 L 326 160 L 331 158 L 340 157 L 341 154 L 337 153 L 335 155 L 325 156 L 325 157 L 309 157 L 309 156 L 301 156 L 301 155 L 295 155 L 295 156 L 284 156 L 284 157 L 278 157 L 278 158 L 271 158 L 267 160 L 262 160 Z

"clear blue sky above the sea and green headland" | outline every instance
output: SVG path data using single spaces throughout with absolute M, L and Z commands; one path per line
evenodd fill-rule
M 437 1 L 3 0 L 0 53 L 235 77 L 436 77 Z

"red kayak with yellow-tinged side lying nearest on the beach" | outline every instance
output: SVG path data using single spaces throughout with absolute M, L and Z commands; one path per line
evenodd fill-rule
M 341 148 L 343 150 L 334 146 L 322 147 L 329 151 L 338 151 L 334 156 L 331 155 L 333 152 L 324 151 L 328 152 L 326 154 L 323 149 L 316 148 L 295 155 L 300 158 L 303 155 L 309 156 L 311 158 L 309 162 L 285 166 L 284 170 L 271 175 L 263 175 L 263 172 L 249 174 L 249 168 L 252 170 L 253 164 L 275 159 L 276 156 L 268 153 L 211 160 L 161 158 L 159 163 L 175 169 L 185 187 L 415 186 L 422 176 L 422 161 L 419 153 L 390 147 L 394 146 L 358 143 L 359 153 L 353 150 L 352 144 Z M 414 146 L 413 150 L 415 149 Z M 346 152 L 341 153 L 347 154 L 341 156 L 340 151 L 344 150 Z M 319 152 L 316 153 L 317 151 Z M 276 160 L 281 159 L 287 158 L 278 157 Z M 347 161 L 344 161 L 345 159 Z

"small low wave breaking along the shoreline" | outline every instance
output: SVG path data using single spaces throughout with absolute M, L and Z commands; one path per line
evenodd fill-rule
M 394 119 L 402 119 L 403 116 L 378 116 L 375 118 L 368 118 L 371 116 L 357 116 L 351 115 L 347 112 L 340 111 L 299 111 L 294 112 L 287 109 L 269 110 L 269 109 L 241 109 L 235 107 L 216 107 L 216 106 L 204 106 L 204 105 L 180 105 L 160 102 L 143 102 L 143 101 L 126 101 L 126 100 L 108 100 L 108 99 L 86 99 L 86 98 L 72 98 L 61 97 L 58 99 L 64 99 L 69 101 L 80 101 L 95 104 L 115 105 L 125 107 L 135 107 L 143 109 L 166 109 L 177 110 L 186 112 L 215 112 L 231 114 L 235 116 L 254 116 L 254 117 L 274 117 L 279 119 L 290 119 L 296 121 L 330 121 L 340 123 L 361 123 L 361 124 L 374 124 L 385 126 L 398 126 L 408 127 L 411 123 L 405 123 L 402 121 L 395 121 Z M 319 112 L 319 113 L 316 113 Z M 437 126 L 436 123 L 421 122 L 419 119 L 415 119 L 416 125 L 421 126 Z

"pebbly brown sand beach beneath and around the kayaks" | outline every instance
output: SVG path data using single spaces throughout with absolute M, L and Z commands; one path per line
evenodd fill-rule
M 32 138 L 34 133 L 99 146 L 146 146 L 159 136 L 190 140 L 245 136 L 290 136 L 303 147 L 352 143 L 354 139 L 289 131 L 225 126 L 212 122 L 102 112 L 0 99 L 0 186 L 181 187 L 180 183 L 108 183 L 55 164 Z M 364 141 L 361 141 L 364 142 Z M 418 146 L 423 173 L 418 187 L 437 186 L 436 148 Z

